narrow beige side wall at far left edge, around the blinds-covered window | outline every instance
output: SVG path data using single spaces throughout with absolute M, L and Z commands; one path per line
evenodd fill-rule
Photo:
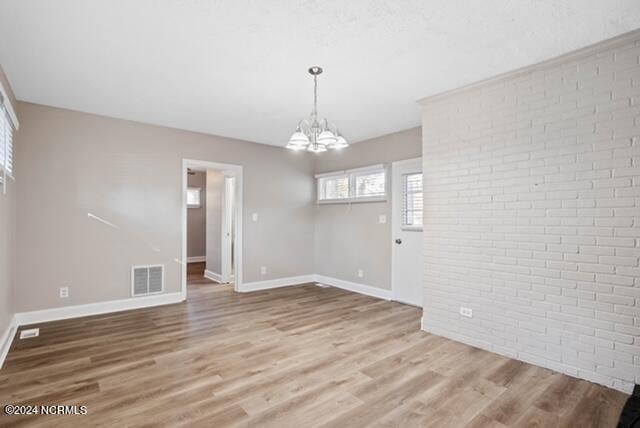
M 15 98 L 7 76 L 0 66 L 0 82 L 8 92 L 9 102 L 15 110 Z M 16 134 L 17 135 L 17 134 Z M 19 175 L 21 171 L 15 171 Z M 14 314 L 13 286 L 16 243 L 16 186 L 15 181 L 7 182 L 7 194 L 0 191 L 0 337 L 5 332 Z M 0 344 L 1 345 L 1 344 Z

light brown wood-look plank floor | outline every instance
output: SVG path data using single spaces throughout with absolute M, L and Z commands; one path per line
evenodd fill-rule
M 193 274 L 197 278 L 197 274 Z M 86 416 L 2 426 L 614 427 L 626 396 L 420 331 L 420 310 L 314 285 L 40 324 L 3 404 Z

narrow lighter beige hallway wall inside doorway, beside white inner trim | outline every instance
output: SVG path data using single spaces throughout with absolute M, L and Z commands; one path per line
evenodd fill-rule
M 207 270 L 222 274 L 224 174 L 207 170 Z

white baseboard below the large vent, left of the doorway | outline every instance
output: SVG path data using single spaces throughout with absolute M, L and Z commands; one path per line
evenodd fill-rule
M 43 309 L 40 311 L 20 312 L 15 314 L 16 326 L 36 324 L 48 321 L 64 320 L 69 318 L 100 315 L 111 312 L 127 311 L 130 309 L 142 309 L 151 306 L 179 303 L 184 300 L 181 292 L 156 294 L 154 296 L 132 297 L 109 302 L 89 303 L 86 305 L 65 306 L 61 308 Z

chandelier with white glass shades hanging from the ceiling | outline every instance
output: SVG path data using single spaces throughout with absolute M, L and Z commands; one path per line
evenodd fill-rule
M 347 147 L 349 143 L 340 134 L 338 128 L 330 124 L 327 119 L 318 119 L 318 76 L 322 74 L 322 68 L 311 67 L 309 74 L 313 76 L 313 110 L 308 119 L 298 122 L 296 132 L 293 133 L 286 147 L 313 153 Z

